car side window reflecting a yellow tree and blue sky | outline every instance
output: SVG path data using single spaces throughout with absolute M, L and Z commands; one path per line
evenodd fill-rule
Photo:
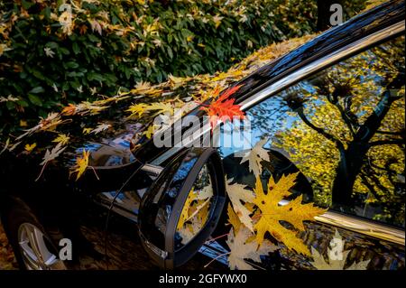
M 404 72 L 401 36 L 247 110 L 251 144 L 262 140 L 269 155 L 261 177 L 299 172 L 306 200 L 404 227 Z M 253 187 L 238 149 L 219 151 L 227 177 Z

